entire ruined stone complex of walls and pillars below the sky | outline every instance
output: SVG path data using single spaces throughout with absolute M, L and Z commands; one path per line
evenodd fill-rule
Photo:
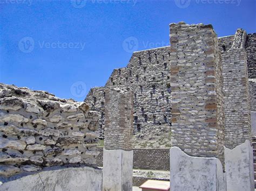
M 171 147 L 172 190 L 254 190 L 255 39 L 172 23 L 171 47 L 133 53 L 85 102 L 0 84 L 0 189 L 132 190 L 133 133 Z

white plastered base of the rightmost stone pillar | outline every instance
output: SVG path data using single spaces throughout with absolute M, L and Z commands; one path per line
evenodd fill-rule
M 228 191 L 254 190 L 253 149 L 249 140 L 233 149 L 224 147 Z

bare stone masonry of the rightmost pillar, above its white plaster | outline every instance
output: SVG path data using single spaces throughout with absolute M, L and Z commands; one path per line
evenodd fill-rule
M 252 136 L 245 41 L 246 32 L 238 29 L 232 47 L 222 54 L 225 146 L 231 149 Z

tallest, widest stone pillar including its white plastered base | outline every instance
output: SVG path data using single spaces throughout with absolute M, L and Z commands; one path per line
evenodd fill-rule
M 222 66 L 212 25 L 170 24 L 171 190 L 226 190 Z

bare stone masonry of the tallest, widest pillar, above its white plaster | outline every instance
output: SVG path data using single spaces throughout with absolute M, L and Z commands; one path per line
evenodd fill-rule
M 212 25 L 170 25 L 172 146 L 224 164 L 222 66 Z

